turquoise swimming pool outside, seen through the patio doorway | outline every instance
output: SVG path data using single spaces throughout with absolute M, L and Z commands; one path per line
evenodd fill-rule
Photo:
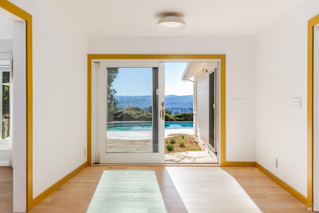
M 165 129 L 192 129 L 193 122 L 165 122 Z M 152 122 L 110 122 L 108 131 L 144 131 L 152 130 Z

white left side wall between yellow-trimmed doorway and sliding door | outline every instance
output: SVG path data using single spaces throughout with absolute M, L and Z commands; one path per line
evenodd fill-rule
M 87 36 L 42 0 L 33 23 L 33 197 L 86 162 Z

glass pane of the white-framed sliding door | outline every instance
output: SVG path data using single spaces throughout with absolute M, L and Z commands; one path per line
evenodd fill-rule
M 158 68 L 107 67 L 106 72 L 106 152 L 158 152 L 158 138 L 154 137 Z

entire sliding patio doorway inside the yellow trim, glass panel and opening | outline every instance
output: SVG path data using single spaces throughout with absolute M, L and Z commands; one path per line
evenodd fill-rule
M 218 164 L 219 60 L 92 62 L 93 164 Z

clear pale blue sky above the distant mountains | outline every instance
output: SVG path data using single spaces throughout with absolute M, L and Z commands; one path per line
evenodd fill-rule
M 191 82 L 183 82 L 186 63 L 165 63 L 165 95 L 192 95 Z M 152 68 L 119 68 L 113 87 L 116 95 L 152 95 Z

